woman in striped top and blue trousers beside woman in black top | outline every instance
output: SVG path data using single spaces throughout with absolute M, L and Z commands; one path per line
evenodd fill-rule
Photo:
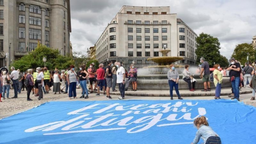
M 71 99 L 72 97 L 76 97 L 76 81 L 77 81 L 77 74 L 75 71 L 75 66 L 71 65 L 70 70 L 67 73 L 67 81 L 69 85 L 68 97 Z

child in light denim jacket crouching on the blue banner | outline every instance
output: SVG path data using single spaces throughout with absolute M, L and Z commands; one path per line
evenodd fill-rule
M 197 144 L 200 137 L 204 140 L 204 144 L 221 144 L 219 135 L 209 126 L 206 117 L 201 116 L 195 119 L 194 124 L 198 131 L 196 137 L 191 144 Z

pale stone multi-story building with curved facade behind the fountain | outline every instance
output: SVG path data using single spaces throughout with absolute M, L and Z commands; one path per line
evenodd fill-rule
M 159 51 L 166 45 L 168 56 L 183 57 L 180 64 L 195 64 L 196 37 L 169 6 L 123 6 L 96 42 L 96 59 L 123 61 L 125 67 L 135 60 L 144 67 L 152 64 L 149 57 L 162 56 Z

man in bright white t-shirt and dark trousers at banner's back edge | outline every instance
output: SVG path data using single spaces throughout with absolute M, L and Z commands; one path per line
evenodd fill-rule
M 125 69 L 122 67 L 120 62 L 117 63 L 116 67 L 118 68 L 116 71 L 117 80 L 116 83 L 118 84 L 119 91 L 121 93 L 121 97 L 118 99 L 124 99 L 124 84 L 125 84 Z

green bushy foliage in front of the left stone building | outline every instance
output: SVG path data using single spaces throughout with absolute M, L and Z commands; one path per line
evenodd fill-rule
M 58 50 L 48 48 L 45 45 L 40 45 L 35 51 L 29 52 L 28 55 L 15 60 L 11 66 L 20 69 L 20 71 L 26 71 L 29 68 L 44 67 L 44 57 L 47 59 L 45 65 L 48 69 L 66 69 L 71 64 L 74 64 L 72 57 L 62 56 Z

